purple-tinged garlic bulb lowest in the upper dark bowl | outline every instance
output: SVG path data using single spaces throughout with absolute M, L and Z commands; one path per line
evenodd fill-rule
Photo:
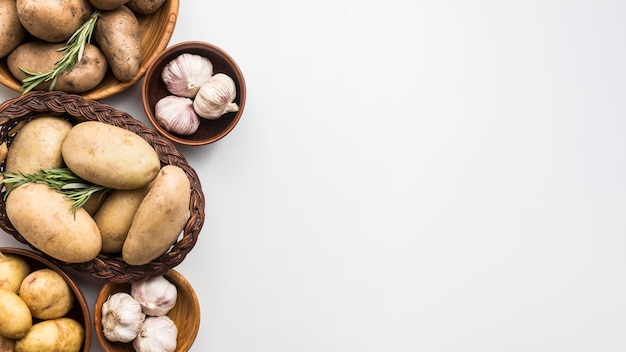
M 156 103 L 154 115 L 159 125 L 177 134 L 193 134 L 200 127 L 200 118 L 189 98 L 168 95 Z

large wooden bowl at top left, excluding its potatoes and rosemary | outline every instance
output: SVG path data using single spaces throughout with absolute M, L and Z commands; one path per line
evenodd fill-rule
M 86 99 L 100 100 L 120 93 L 137 83 L 156 57 L 167 47 L 176 26 L 178 7 L 179 0 L 165 0 L 155 13 L 135 14 L 141 30 L 140 46 L 143 61 L 139 66 L 139 72 L 132 80 L 120 82 L 109 69 L 100 84 L 79 95 Z M 92 40 L 92 44 L 96 43 Z M 0 59 L 0 83 L 18 93 L 23 92 L 22 83 L 11 74 L 7 67 L 6 57 Z

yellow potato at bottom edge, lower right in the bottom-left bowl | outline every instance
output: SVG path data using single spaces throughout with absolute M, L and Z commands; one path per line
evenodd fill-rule
M 84 340 L 85 329 L 76 320 L 44 320 L 15 342 L 15 352 L 78 352 Z

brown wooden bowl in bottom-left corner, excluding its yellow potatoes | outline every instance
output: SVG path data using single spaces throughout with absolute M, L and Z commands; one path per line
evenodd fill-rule
M 87 299 L 81 291 L 80 287 L 69 275 L 67 275 L 60 267 L 50 262 L 41 255 L 21 248 L 0 247 L 0 252 L 4 254 L 18 255 L 26 260 L 30 266 L 30 270 L 35 271 L 39 269 L 52 269 L 57 272 L 65 282 L 70 286 L 74 293 L 74 306 L 65 316 L 76 320 L 81 324 L 85 330 L 85 338 L 83 340 L 83 346 L 81 351 L 88 352 L 91 346 L 91 315 L 89 305 L 87 305 Z

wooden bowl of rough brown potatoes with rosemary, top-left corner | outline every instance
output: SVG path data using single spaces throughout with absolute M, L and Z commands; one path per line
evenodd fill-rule
M 166 48 L 178 8 L 179 0 L 0 1 L 0 83 L 113 96 Z

